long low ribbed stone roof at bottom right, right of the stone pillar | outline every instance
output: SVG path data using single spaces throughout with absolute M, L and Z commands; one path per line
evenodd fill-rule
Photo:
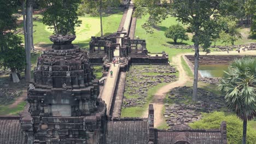
M 190 144 L 207 143 L 207 144 L 222 144 L 222 133 L 220 130 L 205 130 L 205 129 L 173 129 L 173 130 L 158 130 L 158 144 L 174 144 L 176 142 L 185 141 Z

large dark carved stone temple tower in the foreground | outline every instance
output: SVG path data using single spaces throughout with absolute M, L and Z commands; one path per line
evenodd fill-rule
M 28 143 L 102 143 L 106 104 L 75 35 L 53 35 L 53 49 L 38 58 L 28 87 L 29 113 L 21 116 Z M 33 132 L 33 133 L 31 133 Z M 33 140 L 32 140 L 33 139 Z

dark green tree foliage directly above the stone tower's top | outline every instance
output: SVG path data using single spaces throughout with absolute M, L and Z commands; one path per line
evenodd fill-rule
M 54 28 L 55 34 L 75 34 L 75 26 L 80 26 L 77 9 L 80 0 L 46 0 L 43 23 Z

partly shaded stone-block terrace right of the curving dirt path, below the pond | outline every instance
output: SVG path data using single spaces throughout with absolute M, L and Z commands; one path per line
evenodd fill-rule
M 200 101 L 195 104 L 191 102 L 193 93 L 191 87 L 177 87 L 168 94 L 164 116 L 169 126 L 198 121 L 202 112 L 208 113 L 225 108 L 224 97 L 202 88 L 198 88 L 197 92 Z

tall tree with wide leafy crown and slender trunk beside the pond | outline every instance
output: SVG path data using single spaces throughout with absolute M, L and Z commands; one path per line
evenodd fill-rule
M 230 1 L 230 0 L 227 0 Z M 148 12 L 149 20 L 143 25 L 147 32 L 151 32 L 152 27 L 165 19 L 168 14 L 177 17 L 184 25 L 188 26 L 188 32 L 193 34 L 193 43 L 195 47 L 195 64 L 194 64 L 194 83 L 193 83 L 193 100 L 197 101 L 197 76 L 199 68 L 199 45 L 202 45 L 203 51 L 210 52 L 208 47 L 215 38 L 217 20 L 220 15 L 224 14 L 226 2 L 224 0 L 173 0 L 171 8 L 167 2 L 162 2 L 156 6 L 157 0 L 136 0 L 139 5 L 136 14 L 142 15 Z M 143 6 L 147 6 L 147 11 Z

